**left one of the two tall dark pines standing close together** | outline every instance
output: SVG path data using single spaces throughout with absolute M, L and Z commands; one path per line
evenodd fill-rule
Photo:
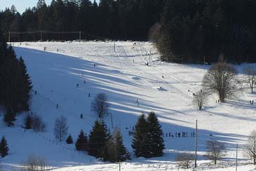
M 142 114 L 135 125 L 135 134 L 133 135 L 132 147 L 135 152 L 135 156 L 149 158 L 149 139 L 147 137 L 148 123 L 145 115 Z

